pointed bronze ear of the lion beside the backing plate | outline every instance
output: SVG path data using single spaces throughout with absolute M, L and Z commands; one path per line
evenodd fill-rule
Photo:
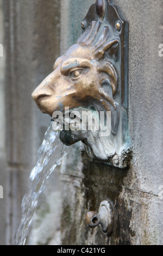
M 96 49 L 95 56 L 98 59 L 101 59 L 104 57 L 104 53 L 108 52 L 109 55 L 117 57 L 119 48 L 119 41 L 117 39 L 110 40 L 108 42 L 105 42 L 105 44 L 101 45 Z

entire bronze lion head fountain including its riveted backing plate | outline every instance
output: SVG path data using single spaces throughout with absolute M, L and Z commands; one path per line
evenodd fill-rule
M 109 136 L 66 131 L 61 141 L 85 144 L 92 160 L 126 167 L 128 145 L 128 23 L 109 0 L 93 4 L 82 22 L 83 34 L 58 58 L 54 71 L 32 97 L 43 113 L 70 110 L 111 113 Z

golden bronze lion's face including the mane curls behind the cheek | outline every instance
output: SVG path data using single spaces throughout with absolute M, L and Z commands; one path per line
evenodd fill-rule
M 102 86 L 106 79 L 112 90 L 109 96 Z M 107 109 L 106 101 L 114 106 L 116 79 L 114 67 L 99 60 L 91 46 L 75 44 L 56 60 L 54 71 L 34 90 L 32 97 L 41 111 L 49 115 L 64 111 L 65 107 L 89 107 L 93 101 Z

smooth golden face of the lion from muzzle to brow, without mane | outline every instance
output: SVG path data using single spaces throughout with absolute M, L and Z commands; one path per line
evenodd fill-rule
M 99 84 L 97 65 L 93 62 L 90 47 L 73 45 L 57 59 L 54 71 L 33 92 L 37 106 L 52 115 L 64 107 L 84 105 L 87 97 L 93 97 Z

